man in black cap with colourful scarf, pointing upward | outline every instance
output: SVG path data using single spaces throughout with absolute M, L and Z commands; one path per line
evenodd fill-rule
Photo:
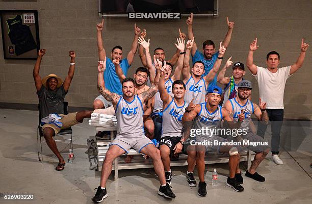
M 218 82 L 224 86 L 222 107 L 224 107 L 228 99 L 235 98 L 237 96 L 237 85 L 243 80 L 246 73 L 244 64 L 237 62 L 232 66 L 231 77 L 224 77 L 226 69 L 232 64 L 231 58 L 232 57 L 226 61 L 217 78 Z

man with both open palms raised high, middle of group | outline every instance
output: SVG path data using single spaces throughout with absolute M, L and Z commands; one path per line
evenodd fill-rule
M 179 50 L 180 53 L 184 53 L 184 49 L 185 49 L 185 41 L 181 38 L 177 39 L 177 43 L 175 44 L 176 48 Z M 142 47 L 145 49 L 145 53 L 146 53 L 146 62 L 147 62 L 147 67 L 150 70 L 150 74 L 152 74 L 153 71 L 153 67 L 154 65 L 151 62 L 151 57 L 149 54 L 149 40 L 146 42 L 144 38 L 139 37 L 139 44 L 142 45 Z M 165 88 L 168 92 L 169 95 L 173 96 L 172 92 L 171 92 L 171 87 L 172 87 L 172 83 L 175 80 L 179 80 L 181 77 L 181 71 L 183 68 L 183 59 L 184 59 L 184 55 L 181 54 L 179 55 L 178 58 L 178 62 L 176 65 L 176 68 L 174 70 L 174 74 L 170 77 L 171 72 L 172 72 L 172 64 L 170 63 L 164 63 L 165 69 L 166 69 L 166 73 L 165 73 Z M 154 55 L 154 61 L 155 60 L 159 60 L 157 59 L 157 57 Z M 161 61 L 161 60 L 159 60 Z M 166 61 L 164 61 L 166 62 Z M 151 77 L 152 78 L 152 77 Z M 161 100 L 160 97 L 160 93 L 157 92 L 155 94 L 155 96 L 152 98 L 151 101 L 148 102 L 148 108 L 151 107 L 153 112 L 152 112 L 152 120 L 154 122 L 154 138 L 157 141 L 160 141 L 160 137 L 161 137 L 161 132 L 162 132 L 162 111 L 163 111 L 163 101 Z

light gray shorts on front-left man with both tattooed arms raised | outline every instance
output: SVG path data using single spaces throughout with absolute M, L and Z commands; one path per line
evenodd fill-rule
M 143 134 L 141 137 L 133 137 L 133 138 L 118 137 L 117 135 L 116 139 L 114 139 L 114 141 L 110 144 L 110 146 L 118 145 L 125 151 L 125 154 L 128 154 L 131 148 L 134 148 L 136 151 L 141 153 L 141 150 L 148 144 L 154 145 L 154 143 Z

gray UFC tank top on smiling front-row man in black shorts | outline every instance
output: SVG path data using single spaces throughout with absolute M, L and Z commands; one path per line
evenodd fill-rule
M 182 136 L 184 131 L 182 117 L 186 107 L 188 107 L 186 101 L 184 101 L 183 106 L 178 107 L 172 98 L 170 104 L 163 111 L 163 129 L 161 138 Z

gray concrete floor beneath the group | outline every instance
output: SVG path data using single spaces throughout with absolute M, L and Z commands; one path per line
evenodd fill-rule
M 92 203 L 100 180 L 100 172 L 89 170 L 85 154 L 87 139 L 94 136 L 95 129 L 84 123 L 73 129 L 73 164 L 66 163 L 63 171 L 56 171 L 58 160 L 44 145 L 44 163 L 37 157 L 37 111 L 0 109 L 0 195 L 34 194 L 34 200 L 5 200 L 0 203 Z M 285 125 L 283 134 L 287 135 L 291 125 Z M 270 129 L 268 129 L 270 130 Z M 278 166 L 271 161 L 271 155 L 258 167 L 257 171 L 266 177 L 266 182 L 257 183 L 245 176 L 244 192 L 238 193 L 225 186 L 228 173 L 227 164 L 214 164 L 207 167 L 206 183 L 211 182 L 214 168 L 219 173 L 219 185 L 207 185 L 207 196 L 197 195 L 197 187 L 187 185 L 186 167 L 173 168 L 171 186 L 177 198 L 167 200 L 157 191 L 159 182 L 153 169 L 120 170 L 119 180 L 114 182 L 112 175 L 107 184 L 109 197 L 103 203 L 312 203 L 312 127 L 310 121 L 294 125 L 290 151 L 282 151 L 280 157 L 284 165 Z M 304 137 L 301 137 L 304 135 Z M 301 138 L 300 138 L 301 137 Z M 299 138 L 299 139 L 298 139 Z M 281 139 L 283 144 L 290 144 Z M 297 143 L 296 143 L 297 141 Z M 67 158 L 68 145 L 58 143 Z M 295 148 L 295 149 L 294 149 Z M 196 172 L 196 171 L 195 171 Z M 197 174 L 196 179 L 198 181 Z

